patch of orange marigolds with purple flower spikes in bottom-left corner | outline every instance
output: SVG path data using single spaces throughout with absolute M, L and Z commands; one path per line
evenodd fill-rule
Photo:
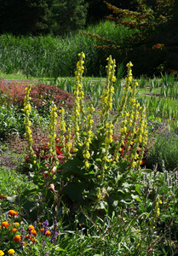
M 43 223 L 25 224 L 17 222 L 18 213 L 9 210 L 0 219 L 0 255 L 45 255 L 58 242 L 59 225 L 55 221 L 49 226 L 48 220 Z M 16 219 L 17 218 L 17 219 Z

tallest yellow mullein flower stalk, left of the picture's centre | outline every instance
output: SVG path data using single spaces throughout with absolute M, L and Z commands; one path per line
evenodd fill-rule
M 75 96 L 75 103 L 74 103 L 74 113 L 72 116 L 72 121 L 73 121 L 73 132 L 74 132 L 74 137 L 73 137 L 73 143 L 74 151 L 78 151 L 76 146 L 80 144 L 80 128 L 81 128 L 81 119 L 83 117 L 84 119 L 84 103 L 83 103 L 83 64 L 84 61 L 83 59 L 85 58 L 85 55 L 83 53 L 79 54 L 79 61 L 77 63 L 77 70 L 75 72 L 75 77 L 76 77 L 76 84 L 74 87 L 74 96 Z

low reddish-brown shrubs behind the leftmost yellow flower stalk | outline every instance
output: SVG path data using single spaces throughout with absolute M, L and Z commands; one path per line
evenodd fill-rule
M 3 104 L 13 104 L 19 108 L 23 108 L 24 97 L 26 95 L 25 88 L 27 83 L 0 81 L 0 95 Z M 72 108 L 74 97 L 70 93 L 57 88 L 55 85 L 36 84 L 32 85 L 31 90 L 32 104 L 37 110 L 41 108 L 49 108 L 51 102 L 56 106 Z

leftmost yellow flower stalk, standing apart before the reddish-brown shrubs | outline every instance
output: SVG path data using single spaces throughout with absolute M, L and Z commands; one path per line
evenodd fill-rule
M 34 156 L 34 152 L 32 149 L 32 130 L 31 130 L 31 121 L 30 121 L 30 113 L 31 113 L 31 104 L 30 104 L 30 91 L 31 91 L 31 86 L 29 85 L 28 87 L 26 87 L 26 96 L 24 98 L 24 113 L 25 113 L 25 119 L 24 119 L 24 125 L 26 127 L 26 133 L 25 133 L 25 137 L 26 137 L 26 141 L 28 143 L 28 148 L 30 151 L 30 156 Z

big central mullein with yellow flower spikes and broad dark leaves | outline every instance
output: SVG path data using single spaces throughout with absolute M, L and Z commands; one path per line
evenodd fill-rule
M 92 208 L 95 211 L 101 205 L 102 208 L 108 208 L 131 202 L 135 194 L 141 193 L 141 184 L 136 183 L 136 176 L 144 154 L 147 131 L 145 108 L 135 99 L 138 84 L 132 81 L 133 64 L 129 62 L 127 65 L 124 95 L 117 113 L 112 115 L 116 64 L 112 56 L 107 58 L 105 91 L 100 97 L 100 122 L 95 125 L 94 131 L 95 108 L 92 103 L 85 108 L 84 102 L 84 58 L 83 53 L 79 54 L 72 122 L 66 123 L 65 109 L 60 108 L 59 139 L 55 130 L 57 108 L 55 105 L 51 107 L 49 159 L 44 163 L 43 170 L 32 149 L 31 123 L 28 119 L 31 110 L 30 87 L 26 89 L 26 139 L 34 172 L 33 180 L 39 189 L 42 188 L 43 205 L 49 199 L 49 193 L 55 197 L 57 212 L 63 195 L 87 211 Z M 116 125 L 119 125 L 118 139 L 113 134 Z M 56 154 L 56 140 L 61 145 L 60 158 Z

